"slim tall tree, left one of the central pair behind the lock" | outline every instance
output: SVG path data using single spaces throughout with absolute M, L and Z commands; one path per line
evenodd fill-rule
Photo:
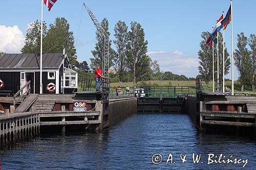
M 122 77 L 124 75 L 124 70 L 126 69 L 125 61 L 127 61 L 126 58 L 126 46 L 127 46 L 127 29 L 125 22 L 118 21 L 115 25 L 114 31 L 115 31 L 115 40 L 114 44 L 116 45 L 116 55 L 113 59 L 114 62 L 114 68 L 117 71 L 118 74 L 118 82 L 120 84 L 120 80 L 122 80 Z

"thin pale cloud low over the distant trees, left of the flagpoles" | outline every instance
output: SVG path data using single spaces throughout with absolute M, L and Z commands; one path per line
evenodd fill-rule
M 186 56 L 182 52 L 154 53 L 149 55 L 152 60 L 157 60 L 162 71 L 171 71 L 174 74 L 196 77 L 198 75 L 198 58 Z

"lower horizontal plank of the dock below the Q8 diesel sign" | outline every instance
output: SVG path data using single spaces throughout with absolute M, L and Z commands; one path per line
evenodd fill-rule
M 40 126 L 46 125 L 81 125 L 81 124 L 100 124 L 100 120 L 80 120 L 80 121 L 66 121 L 66 122 L 40 122 Z

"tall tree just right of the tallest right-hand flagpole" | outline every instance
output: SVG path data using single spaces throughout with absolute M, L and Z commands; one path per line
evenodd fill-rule
M 250 74 L 252 74 L 252 64 L 250 58 L 250 52 L 246 48 L 248 44 L 247 37 L 244 33 L 238 34 L 238 43 L 236 52 L 234 53 L 234 64 L 237 66 L 240 82 L 241 82 L 241 91 L 244 91 L 244 86 L 246 82 L 249 80 Z

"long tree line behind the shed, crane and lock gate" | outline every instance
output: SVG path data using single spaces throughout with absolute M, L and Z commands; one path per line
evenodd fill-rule
M 31 23 L 22 53 L 40 53 L 40 24 L 38 20 Z M 110 35 L 108 19 L 103 18 L 101 25 Z M 92 69 L 95 69 L 96 64 L 102 65 L 103 43 L 97 32 L 96 39 L 95 48 L 91 51 L 93 58 L 90 58 Z M 66 48 L 73 68 L 80 73 L 90 69 L 87 61 L 77 61 L 73 32 L 70 31 L 70 25 L 65 18 L 57 17 L 49 26 L 43 22 L 42 42 L 43 53 L 62 53 L 63 48 Z M 116 50 L 111 47 L 112 43 Z M 140 23 L 132 21 L 130 28 L 123 21 L 119 20 L 116 23 L 114 40 L 110 41 L 110 67 L 116 71 L 116 74 L 110 74 L 112 82 L 133 81 L 137 84 L 138 81 L 146 80 L 194 80 L 184 75 L 175 75 L 170 71 L 161 72 L 158 62 L 152 61 L 146 54 L 147 44 Z

